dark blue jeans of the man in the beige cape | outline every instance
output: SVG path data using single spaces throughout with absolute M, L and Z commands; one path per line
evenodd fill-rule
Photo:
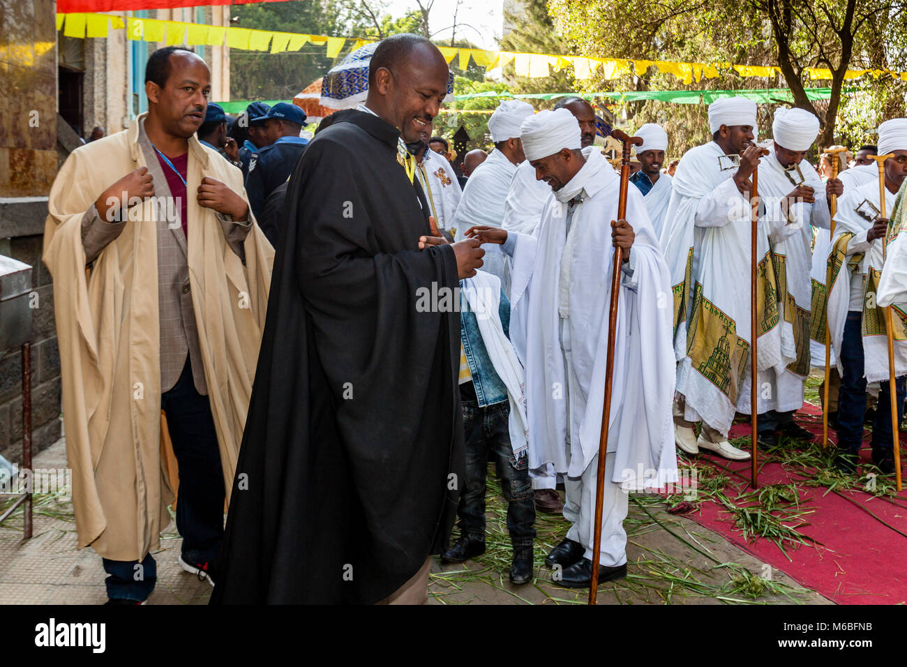
M 192 380 L 189 355 L 180 379 L 161 394 L 161 409 L 180 467 L 180 490 L 176 504 L 176 527 L 182 536 L 182 557 L 189 564 L 213 564 L 220 552 L 224 522 L 224 478 L 214 418 L 207 396 L 201 396 Z M 151 554 L 141 562 L 144 580 L 136 581 L 138 561 L 104 559 L 107 596 L 145 600 L 154 589 L 155 564 Z M 149 578 L 151 574 L 151 578 Z

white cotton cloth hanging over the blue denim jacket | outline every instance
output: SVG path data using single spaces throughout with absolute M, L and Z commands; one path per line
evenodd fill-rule
M 510 430 L 513 456 L 525 456 L 529 437 L 529 419 L 526 417 L 525 373 L 516 350 L 504 334 L 501 315 L 501 280 L 485 271 L 476 271 L 472 278 L 460 281 L 460 289 L 469 308 L 475 313 L 479 334 L 494 372 L 507 387 L 507 401 L 510 404 Z

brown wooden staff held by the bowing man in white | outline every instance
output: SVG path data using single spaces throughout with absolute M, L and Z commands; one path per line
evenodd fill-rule
M 642 145 L 641 137 L 631 137 L 626 132 L 613 130 L 611 136 L 623 142 L 620 160 L 620 194 L 618 198 L 618 220 L 627 215 L 627 185 L 629 183 L 629 147 Z M 595 604 L 599 592 L 599 557 L 601 554 L 601 509 L 605 501 L 605 456 L 608 456 L 608 427 L 611 417 L 611 387 L 614 375 L 614 343 L 618 328 L 618 297 L 620 294 L 620 265 L 623 252 L 614 249 L 614 270 L 611 272 L 611 305 L 608 316 L 608 356 L 605 363 L 605 400 L 601 407 L 601 434 L 599 437 L 599 475 L 595 490 L 595 529 L 592 537 L 592 579 L 589 584 L 589 603 Z

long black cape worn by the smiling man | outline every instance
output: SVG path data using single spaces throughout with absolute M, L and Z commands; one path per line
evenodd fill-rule
M 418 250 L 397 130 L 335 115 L 288 185 L 211 603 L 375 603 L 453 525 L 460 317 L 416 306 L 459 285 L 456 259 Z

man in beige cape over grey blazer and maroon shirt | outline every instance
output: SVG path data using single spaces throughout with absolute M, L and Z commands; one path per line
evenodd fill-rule
M 74 151 L 48 202 L 78 544 L 102 556 L 110 603 L 154 587 L 175 491 L 161 409 L 180 565 L 208 577 L 249 407 L 274 250 L 239 169 L 194 136 L 209 91 L 196 54 L 152 54 L 149 112 Z

